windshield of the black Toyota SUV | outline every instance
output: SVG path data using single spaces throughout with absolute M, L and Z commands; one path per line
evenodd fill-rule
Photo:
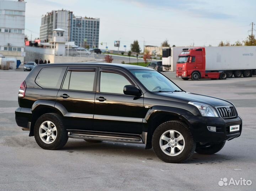
M 164 75 L 153 70 L 130 70 L 146 89 L 152 92 L 182 91 Z

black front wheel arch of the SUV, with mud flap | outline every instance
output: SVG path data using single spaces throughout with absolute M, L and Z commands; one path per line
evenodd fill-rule
M 190 111 L 175 107 L 154 106 L 149 109 L 143 120 L 143 131 L 147 132 L 146 149 L 152 148 L 152 136 L 156 128 L 164 122 L 177 120 L 190 126 L 186 118 L 182 115 L 193 115 Z

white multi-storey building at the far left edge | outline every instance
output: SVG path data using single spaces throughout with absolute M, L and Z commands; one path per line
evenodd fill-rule
M 0 54 L 24 61 L 25 7 L 23 0 L 0 0 Z

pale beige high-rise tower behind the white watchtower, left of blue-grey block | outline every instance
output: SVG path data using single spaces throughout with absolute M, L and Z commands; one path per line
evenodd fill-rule
M 46 13 L 41 18 L 40 40 L 48 42 L 49 36 L 52 36 L 53 29 L 62 28 L 65 30 L 64 38 L 68 40 L 69 13 L 67 10 L 58 10 Z

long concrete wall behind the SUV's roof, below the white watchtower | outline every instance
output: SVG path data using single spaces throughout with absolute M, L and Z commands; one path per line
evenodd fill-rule
M 34 61 L 35 59 L 41 58 L 43 61 L 50 60 L 50 63 L 68 63 L 68 62 L 89 62 L 94 61 L 93 57 L 79 57 L 79 56 L 54 56 L 49 54 L 41 54 L 38 52 L 26 51 L 26 57 L 24 62 Z

